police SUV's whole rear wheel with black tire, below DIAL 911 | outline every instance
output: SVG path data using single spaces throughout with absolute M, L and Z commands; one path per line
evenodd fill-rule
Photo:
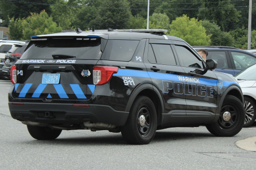
M 153 102 L 147 96 L 138 96 L 132 105 L 125 125 L 121 127 L 124 140 L 130 144 L 148 144 L 153 140 L 156 130 L 157 113 Z

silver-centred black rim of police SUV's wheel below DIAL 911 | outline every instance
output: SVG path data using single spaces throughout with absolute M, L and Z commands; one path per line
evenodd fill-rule
M 146 137 L 148 134 L 150 134 L 151 127 L 152 127 L 152 120 L 150 111 L 145 106 L 142 106 L 137 114 L 137 127 L 139 133 Z

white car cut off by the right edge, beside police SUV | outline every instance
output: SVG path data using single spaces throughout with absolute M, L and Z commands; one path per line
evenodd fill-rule
M 256 118 L 256 64 L 244 69 L 237 75 L 239 85 L 244 95 L 245 124 L 244 127 L 251 126 Z

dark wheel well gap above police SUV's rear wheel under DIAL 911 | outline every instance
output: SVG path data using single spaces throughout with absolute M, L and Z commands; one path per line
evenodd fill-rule
M 158 95 L 156 94 L 155 91 L 151 90 L 151 89 L 145 89 L 145 90 L 142 90 L 139 94 L 139 95 L 144 95 L 144 96 L 147 96 L 148 98 L 150 98 L 152 100 L 152 102 L 154 103 L 154 106 L 156 108 L 156 112 L 157 112 L 157 119 L 158 119 L 158 123 L 159 123 L 159 120 L 161 120 L 161 112 L 162 112 L 162 109 L 161 109 L 161 102 L 160 102 L 160 99 L 158 97 Z

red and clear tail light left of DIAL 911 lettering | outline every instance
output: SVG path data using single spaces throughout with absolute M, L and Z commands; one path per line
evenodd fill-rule
M 95 66 L 93 67 L 93 84 L 102 85 L 110 81 L 113 74 L 117 73 L 118 67 Z

